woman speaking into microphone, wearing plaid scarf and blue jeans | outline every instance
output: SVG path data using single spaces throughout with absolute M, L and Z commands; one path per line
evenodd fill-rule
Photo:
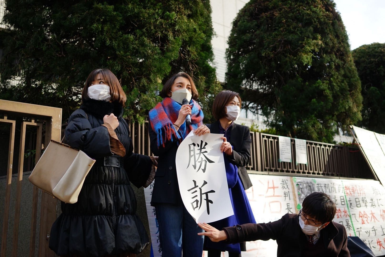
M 159 156 L 151 205 L 156 209 L 163 257 L 202 255 L 202 229 L 183 205 L 176 175 L 176 151 L 182 140 L 195 130 L 196 135 L 210 133 L 203 125 L 203 112 L 196 100 L 198 91 L 192 78 L 184 72 L 173 75 L 160 92 L 162 102 L 149 112 L 150 148 Z M 183 104 L 187 99 L 188 104 Z M 191 116 L 191 124 L 186 116 Z M 186 152 L 186 157 L 188 153 Z

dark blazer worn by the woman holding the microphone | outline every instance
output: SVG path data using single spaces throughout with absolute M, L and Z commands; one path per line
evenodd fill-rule
M 157 136 L 149 122 L 148 133 L 150 136 L 151 152 L 159 156 L 158 167 L 155 173 L 154 188 L 152 189 L 151 205 L 157 203 L 181 205 L 182 198 L 179 193 L 179 184 L 176 176 L 176 151 L 177 140 L 171 142 L 164 140 L 164 146 L 157 146 Z

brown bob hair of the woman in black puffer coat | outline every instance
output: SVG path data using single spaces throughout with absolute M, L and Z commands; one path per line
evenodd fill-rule
M 88 75 L 85 80 L 85 85 L 82 91 L 82 101 L 89 99 L 87 93 L 91 83 L 96 79 L 97 75 L 101 74 L 104 77 L 104 83 L 110 86 L 111 102 L 119 102 L 123 106 L 126 104 L 126 93 L 124 93 L 118 78 L 109 69 L 96 69 Z

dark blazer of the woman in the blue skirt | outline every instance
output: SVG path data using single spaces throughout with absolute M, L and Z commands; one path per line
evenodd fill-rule
M 210 133 L 219 134 L 219 120 L 212 124 L 206 124 L 210 129 Z M 241 179 L 244 189 L 249 189 L 253 186 L 244 166 L 249 164 L 251 137 L 249 127 L 239 125 L 233 122 L 230 127 L 231 137 L 230 144 L 233 146 L 233 155 L 226 155 L 228 160 L 238 167 L 239 178 Z

